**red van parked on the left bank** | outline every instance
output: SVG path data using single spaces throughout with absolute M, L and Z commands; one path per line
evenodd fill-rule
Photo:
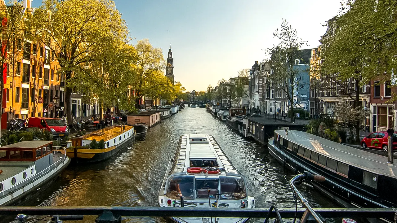
M 61 119 L 30 117 L 27 127 L 47 129 L 55 137 L 63 138 L 69 135 L 69 129 Z

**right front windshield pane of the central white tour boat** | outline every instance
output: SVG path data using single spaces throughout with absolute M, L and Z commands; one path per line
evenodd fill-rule
M 241 177 L 219 177 L 221 200 L 238 200 L 245 198 L 244 181 Z

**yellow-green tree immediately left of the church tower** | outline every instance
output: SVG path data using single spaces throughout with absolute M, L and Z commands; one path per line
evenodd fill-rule
M 150 95 L 153 87 L 166 87 L 168 83 L 157 82 L 159 75 L 164 75 L 166 61 L 160 48 L 153 48 L 149 40 L 139 40 L 134 46 L 137 51 L 136 78 L 131 89 L 135 92 L 137 106 L 145 95 Z

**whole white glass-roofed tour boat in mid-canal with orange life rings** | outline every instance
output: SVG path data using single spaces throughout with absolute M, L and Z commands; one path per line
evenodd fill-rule
M 244 177 L 211 135 L 182 135 L 160 192 L 160 207 L 255 208 Z M 179 223 L 245 222 L 248 218 L 171 217 Z

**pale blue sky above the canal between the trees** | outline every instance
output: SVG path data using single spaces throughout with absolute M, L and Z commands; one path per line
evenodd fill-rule
M 278 44 L 273 32 L 282 19 L 319 45 L 325 21 L 337 15 L 339 0 L 114 0 L 130 36 L 147 38 L 167 58 L 172 44 L 175 81 L 188 90 L 215 87 L 240 69 L 262 62 L 262 49 Z M 39 7 L 41 0 L 33 0 Z

